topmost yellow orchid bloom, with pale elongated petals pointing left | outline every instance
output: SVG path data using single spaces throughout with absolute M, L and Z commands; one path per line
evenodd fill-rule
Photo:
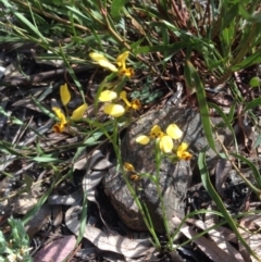
M 110 62 L 103 54 L 91 52 L 89 53 L 89 57 L 97 62 L 100 66 L 108 68 L 112 72 L 116 72 L 121 76 L 127 76 L 132 77 L 134 76 L 134 70 L 132 67 L 126 67 L 126 60 L 129 55 L 129 51 L 125 51 L 121 53 L 116 59 L 115 63 L 117 64 L 117 67 Z

